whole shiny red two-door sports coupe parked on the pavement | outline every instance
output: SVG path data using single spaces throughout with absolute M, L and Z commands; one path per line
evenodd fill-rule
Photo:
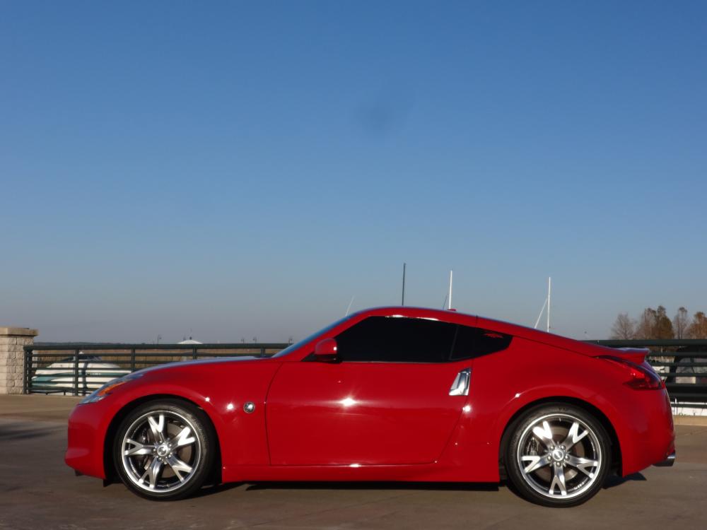
M 352 314 L 271 358 L 174 363 L 69 418 L 66 464 L 177 499 L 207 482 L 508 479 L 577 505 L 674 461 L 665 385 L 614 350 L 450 311 Z

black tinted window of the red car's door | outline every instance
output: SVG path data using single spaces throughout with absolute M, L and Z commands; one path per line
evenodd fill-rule
M 342 361 L 444 363 L 456 324 L 426 319 L 369 317 L 337 336 Z

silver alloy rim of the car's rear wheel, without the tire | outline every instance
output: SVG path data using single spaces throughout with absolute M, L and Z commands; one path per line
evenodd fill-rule
M 592 487 L 602 469 L 597 433 L 580 418 L 553 413 L 536 418 L 520 435 L 521 476 L 550 499 L 571 499 Z

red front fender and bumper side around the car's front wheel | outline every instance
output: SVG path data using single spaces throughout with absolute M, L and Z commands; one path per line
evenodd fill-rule
M 143 377 L 117 387 L 102 401 L 74 408 L 69 418 L 66 464 L 83 474 L 106 478 L 104 447 L 110 447 L 107 436 L 135 406 L 169 396 L 192 402 L 211 420 L 221 450 L 224 480 L 237 466 L 267 465 L 264 405 L 267 389 L 280 365 L 269 359 L 222 360 L 147 370 Z M 247 401 L 255 404 L 252 413 L 243 410 Z

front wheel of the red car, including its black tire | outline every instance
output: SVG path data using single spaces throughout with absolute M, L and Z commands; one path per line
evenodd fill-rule
M 123 483 L 151 500 L 192 495 L 216 461 L 216 435 L 209 419 L 179 399 L 158 399 L 135 408 L 120 423 L 112 448 Z

